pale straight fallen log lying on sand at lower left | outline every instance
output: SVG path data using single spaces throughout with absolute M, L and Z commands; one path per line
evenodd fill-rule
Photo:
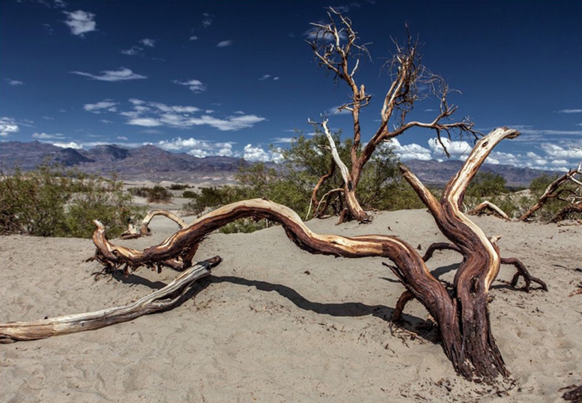
M 101 311 L 79 313 L 35 320 L 33 322 L 9 322 L 0 324 L 0 343 L 46 339 L 47 337 L 68 335 L 69 333 L 94 330 L 134 320 L 136 317 L 157 311 L 172 309 L 180 303 L 189 286 L 199 278 L 210 275 L 210 269 L 220 263 L 220 257 L 201 261 L 190 269 L 178 274 L 162 289 L 140 298 L 124 307 L 102 309 Z

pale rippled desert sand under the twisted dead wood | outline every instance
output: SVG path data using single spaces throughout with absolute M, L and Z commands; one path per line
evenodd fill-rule
M 548 283 L 527 294 L 503 266 L 490 292 L 492 332 L 514 385 L 459 378 L 427 311 L 413 301 L 390 326 L 403 286 L 383 259 L 309 255 L 280 227 L 214 233 L 197 259 L 223 257 L 190 298 L 164 313 L 100 330 L 0 345 L 1 402 L 563 402 L 582 384 L 582 226 L 473 218 L 501 235 L 503 257 Z M 185 218 L 190 222 L 193 218 Z M 319 233 L 398 235 L 421 250 L 444 237 L 425 210 L 375 213 L 371 224 L 312 220 Z M 114 243 L 144 248 L 177 229 Z M 90 239 L 0 237 L 0 322 L 36 320 L 133 302 L 176 273 L 140 269 L 95 280 Z M 455 252 L 429 267 L 452 281 Z M 520 283 L 522 285 L 523 283 Z

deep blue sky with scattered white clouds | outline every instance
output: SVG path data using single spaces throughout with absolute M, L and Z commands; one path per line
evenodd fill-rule
M 0 141 L 59 146 L 155 144 L 199 157 L 277 157 L 307 120 L 329 114 L 349 135 L 348 101 L 305 38 L 333 6 L 353 21 L 372 60 L 357 83 L 379 125 L 390 85 L 383 64 L 405 23 L 422 62 L 451 88 L 453 117 L 515 127 L 489 162 L 565 170 L 582 160 L 582 1 L 0 1 Z M 431 121 L 438 103 L 412 116 Z M 394 142 L 402 159 L 443 159 L 432 131 Z M 453 138 L 463 159 L 468 139 Z M 1 144 L 0 144 L 1 146 Z

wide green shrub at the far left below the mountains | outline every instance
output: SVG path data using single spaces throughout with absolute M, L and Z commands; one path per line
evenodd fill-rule
M 0 233 L 51 237 L 91 237 L 93 220 L 116 237 L 129 218 L 144 216 L 131 205 L 123 183 L 42 166 L 32 172 L 1 173 Z

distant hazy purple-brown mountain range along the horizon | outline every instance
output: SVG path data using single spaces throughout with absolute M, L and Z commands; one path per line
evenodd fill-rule
M 116 172 L 121 179 L 150 181 L 232 181 L 240 164 L 233 157 L 194 157 L 186 153 L 170 153 L 156 146 L 123 148 L 115 144 L 96 146 L 89 150 L 60 148 L 41 142 L 1 142 L 0 165 L 3 170 L 19 167 L 33 170 L 46 161 L 75 167 L 82 172 L 109 176 Z M 246 163 L 248 164 L 248 163 Z M 459 170 L 458 160 L 422 161 L 412 159 L 405 164 L 427 185 L 444 185 Z M 528 186 L 542 170 L 509 165 L 483 164 L 481 172 L 501 174 L 507 185 Z

